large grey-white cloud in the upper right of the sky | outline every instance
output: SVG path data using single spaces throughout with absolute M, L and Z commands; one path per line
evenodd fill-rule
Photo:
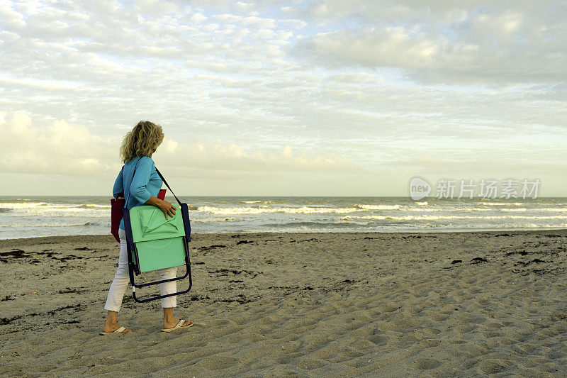
M 548 17 L 552 10 L 567 16 L 564 4 L 435 4 L 313 6 L 313 17 L 356 16 L 360 26 L 302 38 L 293 52 L 327 67 L 395 67 L 422 84 L 501 86 L 567 77 L 567 29 L 561 18 Z

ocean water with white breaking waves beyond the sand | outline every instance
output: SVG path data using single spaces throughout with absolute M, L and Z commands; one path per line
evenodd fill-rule
M 166 200 L 176 204 L 173 196 Z M 567 227 L 567 198 L 184 196 L 194 233 L 537 230 Z M 0 196 L 0 239 L 109 234 L 108 196 Z

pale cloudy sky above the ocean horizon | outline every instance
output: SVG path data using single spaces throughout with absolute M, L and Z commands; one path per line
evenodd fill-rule
M 110 196 L 140 120 L 179 195 L 566 195 L 566 1 L 0 0 L 0 51 L 0 195 Z

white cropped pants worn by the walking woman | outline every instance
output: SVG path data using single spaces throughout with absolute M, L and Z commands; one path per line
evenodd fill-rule
M 104 309 L 108 311 L 120 310 L 120 305 L 122 304 L 122 298 L 124 296 L 124 291 L 128 286 L 128 281 L 130 276 L 128 274 L 128 248 L 126 247 L 126 231 L 122 228 L 118 228 L 118 237 L 120 238 L 120 257 L 118 258 L 118 269 L 116 269 L 116 274 L 111 284 L 111 289 L 108 291 L 108 298 L 106 298 L 106 304 Z M 160 279 L 170 279 L 177 276 L 177 267 L 159 269 L 156 272 L 159 273 Z M 159 284 L 162 295 L 172 294 L 177 291 L 177 282 L 165 282 L 164 284 Z M 162 298 L 162 307 L 176 307 L 177 306 L 177 296 L 168 296 L 167 298 Z

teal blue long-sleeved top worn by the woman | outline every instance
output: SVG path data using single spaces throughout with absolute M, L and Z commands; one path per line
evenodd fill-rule
M 134 167 L 136 167 L 136 172 L 135 176 L 132 177 Z M 134 157 L 118 172 L 118 177 L 116 177 L 112 189 L 112 196 L 116 198 L 118 194 L 124 193 L 124 199 L 127 201 L 124 206 L 130 210 L 134 206 L 145 204 L 151 196 L 157 197 L 159 189 L 162 189 L 162 183 L 163 181 L 157 174 L 154 160 L 151 157 Z M 122 218 L 118 227 L 125 229 L 124 218 Z

